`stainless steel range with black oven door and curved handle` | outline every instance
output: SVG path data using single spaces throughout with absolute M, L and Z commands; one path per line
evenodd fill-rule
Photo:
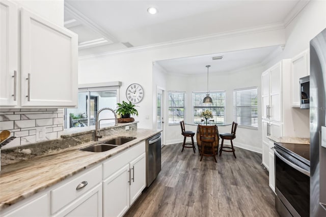
M 310 146 L 274 143 L 275 206 L 281 216 L 309 216 Z

